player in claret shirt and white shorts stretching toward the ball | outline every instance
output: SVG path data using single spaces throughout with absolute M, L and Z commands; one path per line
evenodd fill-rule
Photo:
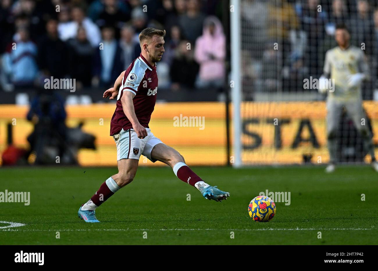
M 183 182 L 195 186 L 205 199 L 222 201 L 230 196 L 217 186 L 205 183 L 174 148 L 155 137 L 148 124 L 155 107 L 158 92 L 156 62 L 164 53 L 166 31 L 146 28 L 139 34 L 141 54 L 119 75 L 114 87 L 103 97 L 117 99 L 110 122 L 110 136 L 117 147 L 118 173 L 109 177 L 98 191 L 79 208 L 78 216 L 85 222 L 99 222 L 95 209 L 123 186 L 134 179 L 141 154 L 152 162 L 161 161 L 171 166 Z

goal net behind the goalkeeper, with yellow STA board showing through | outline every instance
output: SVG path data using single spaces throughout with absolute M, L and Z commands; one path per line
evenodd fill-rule
M 232 126 L 237 137 L 232 153 L 240 148 L 240 165 L 328 162 L 326 95 L 313 83 L 323 73 L 325 52 L 337 46 L 338 24 L 347 26 L 351 44 L 367 59 L 370 80 L 361 91 L 364 125 L 378 143 L 378 103 L 373 101 L 378 99 L 375 1 L 241 0 L 238 5 L 234 18 L 240 39 L 231 54 L 239 50 L 241 65 L 232 69 L 240 72 L 240 84 L 232 98 L 239 92 L 240 103 L 234 99 L 234 105 L 240 106 L 240 125 Z M 232 34 L 231 28 L 231 38 Z M 336 162 L 370 160 L 345 110 L 337 130 Z M 235 144 L 239 139 L 240 147 Z

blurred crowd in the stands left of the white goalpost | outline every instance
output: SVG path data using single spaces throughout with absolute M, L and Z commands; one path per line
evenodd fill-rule
M 0 89 L 76 79 L 107 88 L 140 53 L 146 27 L 165 29 L 159 86 L 222 87 L 226 38 L 217 0 L 0 0 Z

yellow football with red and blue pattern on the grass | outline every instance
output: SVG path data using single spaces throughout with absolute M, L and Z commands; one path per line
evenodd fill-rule
M 276 214 L 276 204 L 266 196 L 257 196 L 248 205 L 248 214 L 257 222 L 268 222 Z

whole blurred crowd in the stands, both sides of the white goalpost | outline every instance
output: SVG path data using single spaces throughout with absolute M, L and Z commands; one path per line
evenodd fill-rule
M 344 23 L 364 50 L 378 88 L 378 0 L 241 0 L 245 99 L 256 92 L 303 92 L 322 74 L 325 52 Z M 0 0 L 0 89 L 76 79 L 76 89 L 111 86 L 140 53 L 138 34 L 165 29 L 159 87 L 219 88 L 226 34 L 220 0 Z M 250 97 L 249 97 L 250 96 Z

